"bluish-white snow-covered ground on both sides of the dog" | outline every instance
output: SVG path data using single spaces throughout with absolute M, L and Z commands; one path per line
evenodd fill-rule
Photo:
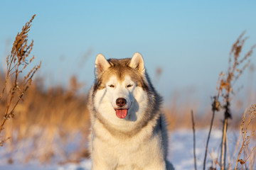
M 196 131 L 196 157 L 198 169 L 203 167 L 203 157 L 206 147 L 206 138 L 208 135 L 208 129 Z M 176 130 L 169 135 L 169 156 L 168 159 L 174 164 L 175 169 L 193 169 L 193 133 L 192 130 Z M 213 130 L 210 137 L 209 151 L 212 153 L 212 157 L 217 157 L 220 153 L 220 139 L 222 137 L 221 130 Z M 235 144 L 238 140 L 239 132 L 228 132 L 228 147 L 230 155 L 233 155 L 235 151 Z M 4 152 L 4 147 L 0 148 L 1 153 Z M 237 157 L 237 154 L 235 154 Z M 232 159 L 232 157 L 231 157 Z M 234 164 L 234 163 L 233 163 Z M 29 164 L 6 164 L 6 162 L 0 162 L 1 170 L 87 170 L 90 169 L 91 162 L 89 159 L 82 160 L 79 164 L 48 164 L 41 165 L 36 162 L 30 162 Z M 208 154 L 207 167 L 212 166 L 212 159 Z

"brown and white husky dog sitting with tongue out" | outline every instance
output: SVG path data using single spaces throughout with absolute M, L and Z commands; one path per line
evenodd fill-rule
M 121 60 L 97 55 L 88 95 L 92 169 L 173 169 L 161 101 L 138 52 Z

